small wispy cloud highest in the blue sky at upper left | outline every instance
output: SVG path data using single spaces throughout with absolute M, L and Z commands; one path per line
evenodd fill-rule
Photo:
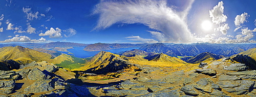
M 34 13 L 33 13 L 33 12 L 31 11 L 31 8 L 27 8 L 27 7 L 24 8 L 24 7 L 23 7 L 23 12 L 27 14 L 27 19 L 28 19 L 28 20 L 33 20 L 34 18 L 35 18 L 35 19 L 38 18 L 37 15 L 39 14 L 39 12 L 34 12 Z

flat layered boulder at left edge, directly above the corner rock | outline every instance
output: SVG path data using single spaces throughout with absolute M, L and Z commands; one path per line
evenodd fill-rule
M 18 79 L 15 71 L 0 71 L 0 79 Z

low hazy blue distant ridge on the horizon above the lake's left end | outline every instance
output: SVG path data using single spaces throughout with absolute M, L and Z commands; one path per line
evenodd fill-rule
M 71 42 L 51 42 L 45 45 L 42 45 L 44 48 L 54 48 L 54 47 L 85 47 L 89 44 L 81 43 L 71 43 Z

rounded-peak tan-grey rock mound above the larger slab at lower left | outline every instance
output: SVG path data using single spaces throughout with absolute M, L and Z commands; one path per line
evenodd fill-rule
M 28 78 L 30 80 L 46 80 L 47 75 L 40 71 L 38 68 L 34 68 L 28 73 Z

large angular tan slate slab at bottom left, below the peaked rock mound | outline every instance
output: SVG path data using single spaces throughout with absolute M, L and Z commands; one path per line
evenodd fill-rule
M 33 84 L 24 89 L 24 93 L 37 93 L 53 90 L 52 80 L 36 80 Z

